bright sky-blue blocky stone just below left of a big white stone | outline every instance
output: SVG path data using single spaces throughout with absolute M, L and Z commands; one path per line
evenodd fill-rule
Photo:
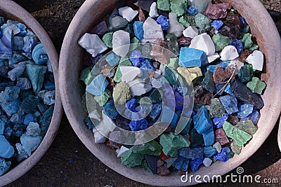
M 181 48 L 178 65 L 181 67 L 201 67 L 207 60 L 207 55 L 203 50 L 184 47 Z

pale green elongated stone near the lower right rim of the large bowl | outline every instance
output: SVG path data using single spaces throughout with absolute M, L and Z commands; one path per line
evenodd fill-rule
M 226 132 L 226 136 L 236 141 L 237 146 L 243 146 L 251 139 L 251 134 L 238 129 L 228 122 L 223 123 L 223 131 Z

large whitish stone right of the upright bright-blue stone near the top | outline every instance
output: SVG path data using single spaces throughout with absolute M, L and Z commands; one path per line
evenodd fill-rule
M 156 39 L 164 39 L 164 34 L 161 25 L 159 25 L 155 20 L 148 17 L 143 23 L 143 40 L 142 42 L 154 43 Z

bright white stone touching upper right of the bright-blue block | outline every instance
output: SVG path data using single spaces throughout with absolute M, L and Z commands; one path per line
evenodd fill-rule
M 207 55 L 215 54 L 215 45 L 211 40 L 211 37 L 207 33 L 195 36 L 190 43 L 190 48 L 195 48 L 198 50 L 204 50 Z

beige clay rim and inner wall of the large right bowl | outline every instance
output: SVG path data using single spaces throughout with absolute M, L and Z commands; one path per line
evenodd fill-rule
M 195 174 L 226 174 L 247 160 L 263 144 L 273 129 L 280 114 L 280 82 L 281 82 L 281 41 L 270 15 L 259 0 L 225 0 L 246 18 L 252 34 L 256 36 L 261 50 L 266 55 L 266 68 L 263 80 L 268 87 L 263 95 L 265 106 L 261 110 L 259 130 L 249 144 L 228 162 L 216 162 L 211 167 L 201 167 Z M 77 136 L 87 148 L 105 165 L 129 179 L 157 186 L 187 186 L 194 183 L 182 183 L 180 176 L 174 172 L 170 176 L 151 175 L 140 168 L 129 168 L 121 164 L 113 150 L 104 144 L 95 144 L 93 133 L 84 125 L 85 113 L 81 107 L 81 95 L 84 90 L 79 83 L 84 50 L 79 47 L 78 40 L 91 27 L 98 24 L 103 17 L 112 11 L 117 0 L 87 0 L 72 20 L 63 41 L 60 53 L 60 93 L 65 113 Z M 92 164 L 92 163 L 89 163 Z M 253 166 L 254 167 L 254 166 Z

